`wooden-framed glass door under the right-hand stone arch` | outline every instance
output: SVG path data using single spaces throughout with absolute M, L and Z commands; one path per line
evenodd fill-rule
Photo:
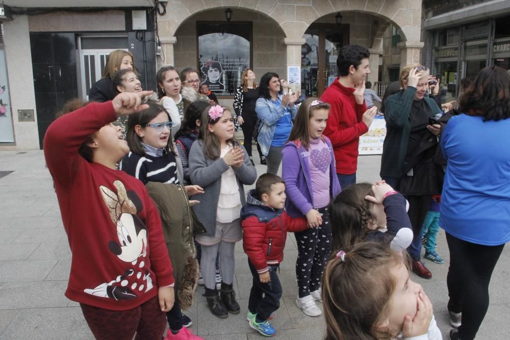
M 338 76 L 337 57 L 349 39 L 349 25 L 312 24 L 301 46 L 301 93 L 320 97 Z

